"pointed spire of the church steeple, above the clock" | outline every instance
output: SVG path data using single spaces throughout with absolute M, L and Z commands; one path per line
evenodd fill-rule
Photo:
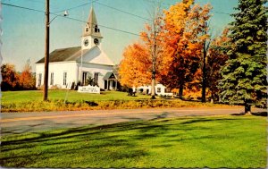
M 97 38 L 102 38 L 99 27 L 97 25 L 96 14 L 92 6 L 90 9 L 88 23 L 86 24 L 83 36 L 94 36 Z

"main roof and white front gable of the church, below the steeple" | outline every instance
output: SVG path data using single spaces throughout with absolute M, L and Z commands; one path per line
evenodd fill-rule
M 105 55 L 105 52 L 98 46 L 94 46 L 87 50 L 82 50 L 81 46 L 56 49 L 50 53 L 49 63 L 69 61 L 80 63 L 81 55 L 83 55 L 83 63 L 114 65 L 113 61 L 111 61 L 111 59 Z M 40 59 L 37 63 L 45 63 L 45 57 Z

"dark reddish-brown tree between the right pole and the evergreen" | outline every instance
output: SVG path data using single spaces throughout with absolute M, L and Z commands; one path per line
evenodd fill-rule
M 211 101 L 218 96 L 218 81 L 221 80 L 221 68 L 228 60 L 227 52 L 230 49 L 229 29 L 222 31 L 222 35 L 212 40 L 208 50 L 206 63 L 207 88 L 211 94 Z

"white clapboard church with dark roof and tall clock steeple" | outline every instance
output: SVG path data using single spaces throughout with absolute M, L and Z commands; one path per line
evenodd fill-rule
M 90 76 L 100 89 L 118 89 L 113 73 L 113 61 L 101 48 L 102 35 L 96 14 L 91 8 L 88 23 L 83 30 L 81 46 L 56 49 L 49 55 L 48 87 L 71 89 L 71 84 L 86 84 Z M 36 63 L 36 87 L 44 84 L 45 58 Z

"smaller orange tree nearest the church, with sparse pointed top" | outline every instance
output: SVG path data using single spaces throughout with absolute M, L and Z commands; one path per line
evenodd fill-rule
M 119 74 L 122 85 L 138 87 L 151 84 L 152 99 L 155 98 L 155 81 L 162 72 L 163 54 L 163 18 L 155 7 L 151 24 L 145 25 L 140 32 L 140 42 L 130 45 L 123 52 Z

